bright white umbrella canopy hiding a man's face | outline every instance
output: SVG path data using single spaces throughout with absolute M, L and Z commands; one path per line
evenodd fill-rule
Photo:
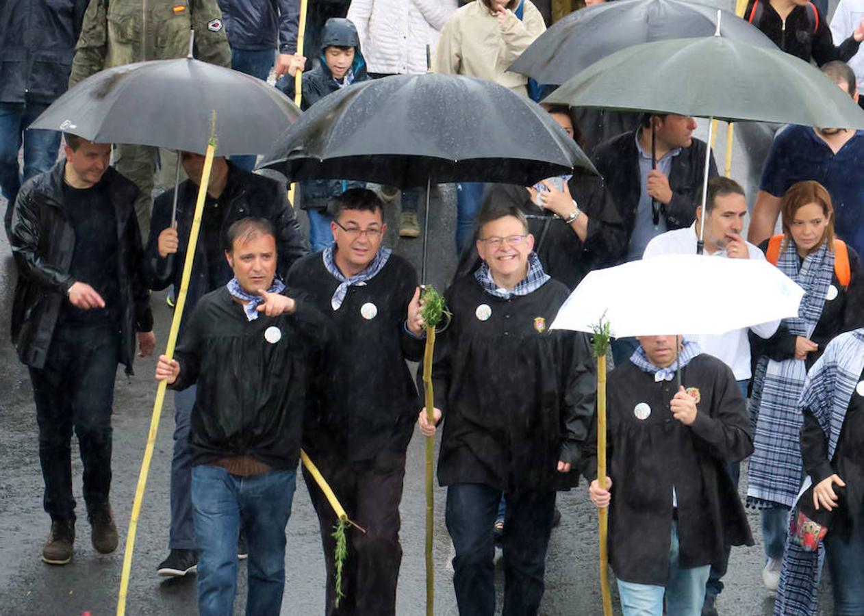
M 710 296 L 698 290 L 708 281 Z M 552 329 L 591 332 L 605 318 L 619 338 L 725 333 L 797 316 L 803 296 L 804 289 L 761 259 L 664 255 L 592 271 Z

